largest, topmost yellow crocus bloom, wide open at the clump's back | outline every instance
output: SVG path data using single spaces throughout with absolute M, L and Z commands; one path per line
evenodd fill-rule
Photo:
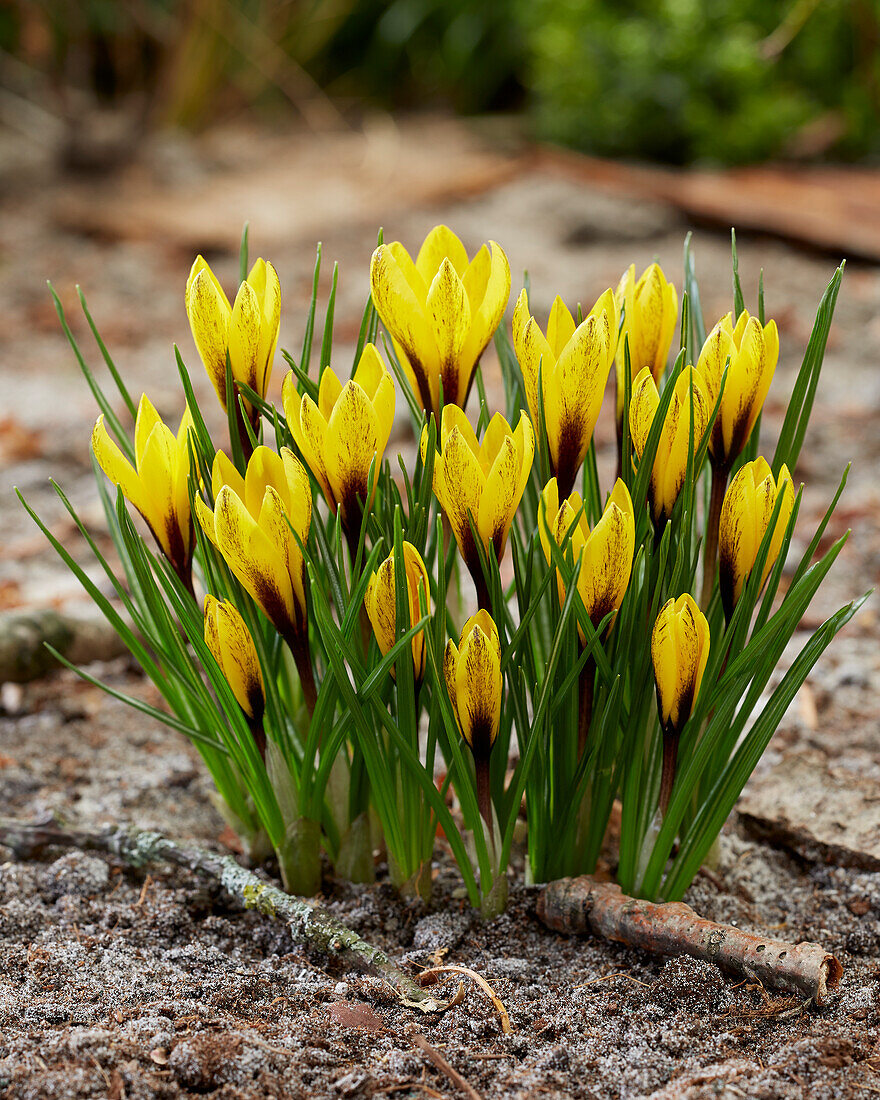
M 381 244 L 370 287 L 421 407 L 439 420 L 441 380 L 443 402 L 463 407 L 510 297 L 504 250 L 490 241 L 469 261 L 452 230 L 435 226 L 415 263 L 399 241 Z

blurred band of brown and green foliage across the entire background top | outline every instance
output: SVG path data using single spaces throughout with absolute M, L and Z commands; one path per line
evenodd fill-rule
M 345 112 L 525 103 L 539 136 L 610 156 L 880 153 L 880 0 L 11 0 L 0 13 L 0 51 L 55 88 L 140 91 L 154 124 L 292 103 L 309 119 L 318 85 Z

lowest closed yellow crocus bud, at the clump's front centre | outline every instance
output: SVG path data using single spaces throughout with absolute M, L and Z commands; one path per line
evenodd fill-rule
M 487 760 L 502 716 L 502 647 L 488 612 L 468 619 L 458 646 L 447 642 L 443 673 L 462 737 Z

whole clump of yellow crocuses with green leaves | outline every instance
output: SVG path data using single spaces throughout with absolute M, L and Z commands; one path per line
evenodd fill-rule
M 524 289 L 509 338 L 495 242 L 469 258 L 438 226 L 415 261 L 381 243 L 370 283 L 348 380 L 338 352 L 328 362 L 332 296 L 310 376 L 316 292 L 279 411 L 275 268 L 249 272 L 245 237 L 230 305 L 196 260 L 184 301 L 229 447 L 215 447 L 183 360 L 176 435 L 144 396 L 130 440 L 97 388 L 92 450 L 119 490 L 114 507 L 101 484 L 135 630 L 89 591 L 164 695 L 155 714 L 198 744 L 246 850 L 274 850 L 288 889 L 319 889 L 321 848 L 370 878 L 380 847 L 398 889 L 426 895 L 442 831 L 492 914 L 525 798 L 535 880 L 593 870 L 619 800 L 619 881 L 680 897 L 776 715 L 855 612 L 823 626 L 755 719 L 840 547 L 812 563 L 823 525 L 787 565 L 790 471 L 839 272 L 772 455 L 760 415 L 779 337 L 762 292 L 752 316 L 735 279 L 734 312 L 706 332 L 688 250 L 681 296 L 658 264 L 638 278 L 634 265 L 586 311 L 557 296 L 542 328 Z M 617 476 L 603 492 L 613 365 Z M 402 405 L 415 439 L 393 464 Z

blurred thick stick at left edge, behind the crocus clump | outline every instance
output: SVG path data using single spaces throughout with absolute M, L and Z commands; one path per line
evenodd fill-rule
M 26 683 L 61 668 L 48 642 L 74 664 L 110 661 L 128 652 L 110 624 L 97 615 L 63 615 L 53 608 L 0 614 L 0 683 Z

